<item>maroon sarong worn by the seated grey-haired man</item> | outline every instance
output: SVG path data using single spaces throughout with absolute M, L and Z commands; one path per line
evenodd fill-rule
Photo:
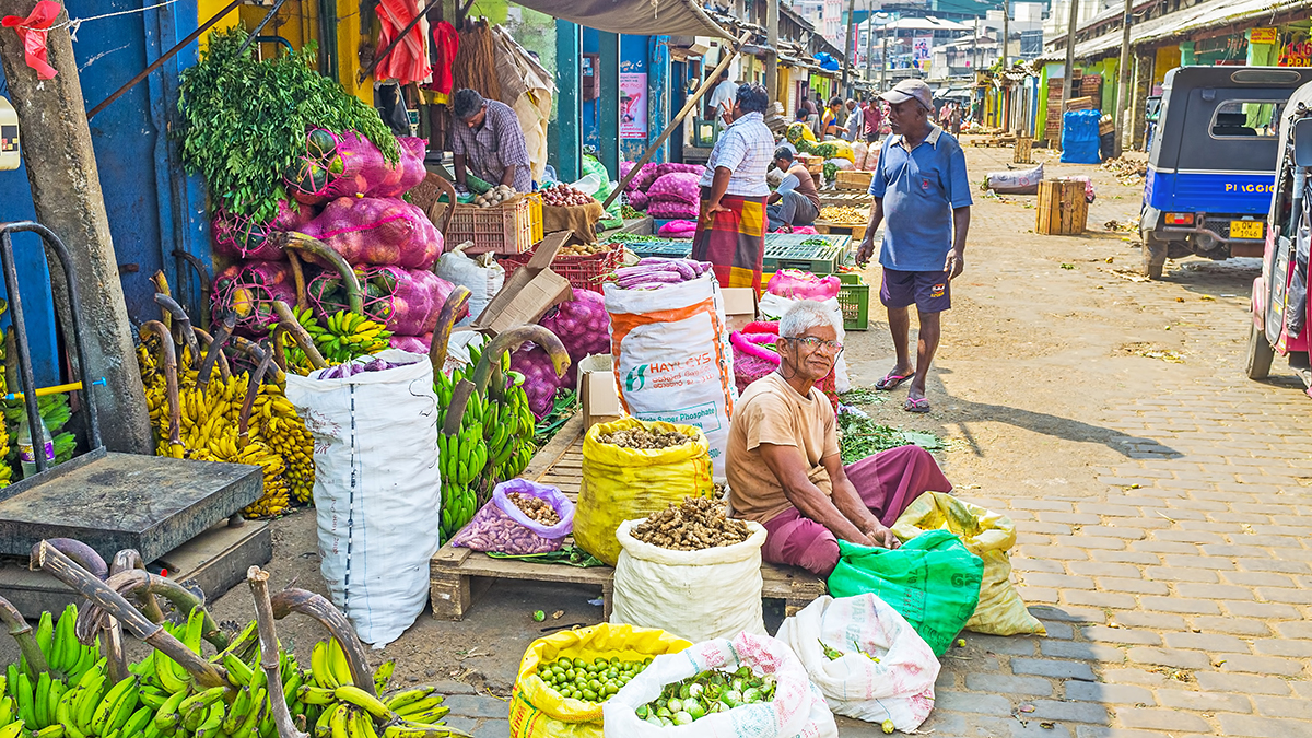
M 870 512 L 888 527 L 924 492 L 953 491 L 938 462 L 920 446 L 883 450 L 845 470 Z M 766 523 L 765 534 L 765 561 L 800 566 L 827 579 L 838 565 L 838 540 L 824 525 L 803 517 L 796 507 Z

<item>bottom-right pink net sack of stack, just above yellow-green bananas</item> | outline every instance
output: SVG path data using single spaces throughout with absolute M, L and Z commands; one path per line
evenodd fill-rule
M 361 302 L 365 315 L 388 331 L 407 336 L 432 334 L 442 303 L 454 289 L 451 282 L 432 272 L 400 267 L 357 268 L 356 278 L 363 290 Z M 346 289 L 336 272 L 324 272 L 311 280 L 306 293 L 310 307 L 320 319 L 349 310 Z

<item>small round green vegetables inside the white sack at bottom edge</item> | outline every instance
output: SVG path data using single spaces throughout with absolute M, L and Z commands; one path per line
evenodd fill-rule
M 774 700 L 774 676 L 756 676 L 744 666 L 728 672 L 706 670 L 697 676 L 666 684 L 660 697 L 640 705 L 635 712 L 640 720 L 669 727 L 687 725 L 708 714 L 728 712 L 740 705 L 754 705 Z

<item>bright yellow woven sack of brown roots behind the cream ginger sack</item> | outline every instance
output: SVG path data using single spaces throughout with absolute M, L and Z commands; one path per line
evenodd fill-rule
M 665 449 L 628 449 L 597 440 L 605 433 L 635 428 L 677 432 L 694 441 Z M 575 508 L 575 542 L 615 566 L 619 561 L 615 529 L 621 523 L 647 517 L 684 498 L 708 498 L 714 492 L 710 445 L 701 428 L 635 418 L 598 423 L 588 428 L 583 439 L 583 485 Z

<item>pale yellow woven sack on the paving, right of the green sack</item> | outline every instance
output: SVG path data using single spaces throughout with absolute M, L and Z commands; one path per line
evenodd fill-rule
M 971 553 L 984 559 L 980 604 L 966 622 L 967 630 L 992 636 L 1048 634 L 1012 586 L 1012 559 L 1006 552 L 1015 544 L 1015 524 L 1010 517 L 949 494 L 925 492 L 893 523 L 893 534 L 901 541 L 937 529 L 956 533 Z

